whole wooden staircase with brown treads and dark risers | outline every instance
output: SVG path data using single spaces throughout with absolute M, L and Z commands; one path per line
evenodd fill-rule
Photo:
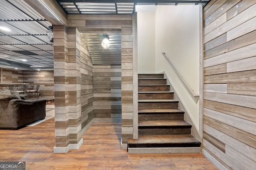
M 128 153 L 198 153 L 200 141 L 164 74 L 138 75 L 138 139 L 128 139 Z

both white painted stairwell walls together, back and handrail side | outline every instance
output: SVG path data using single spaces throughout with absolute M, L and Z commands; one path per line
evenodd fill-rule
M 141 10 L 142 11 L 142 10 Z M 190 95 L 162 52 L 199 94 L 199 6 L 157 6 L 138 15 L 138 73 L 166 72 L 199 129 L 198 98 Z

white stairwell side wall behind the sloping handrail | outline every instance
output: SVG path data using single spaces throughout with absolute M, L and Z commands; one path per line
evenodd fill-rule
M 156 73 L 166 72 L 197 129 L 198 98 L 190 95 L 161 53 L 166 53 L 194 92 L 199 94 L 199 18 L 199 6 L 192 5 L 158 6 L 155 13 Z

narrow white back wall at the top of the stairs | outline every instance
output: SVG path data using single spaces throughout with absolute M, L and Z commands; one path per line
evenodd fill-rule
M 138 73 L 155 73 L 155 13 L 138 12 Z

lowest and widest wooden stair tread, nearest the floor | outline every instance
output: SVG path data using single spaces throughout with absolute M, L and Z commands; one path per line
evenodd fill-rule
M 128 144 L 164 144 L 164 143 L 198 143 L 200 141 L 193 135 L 182 134 L 182 135 L 139 135 L 138 139 L 128 139 Z

